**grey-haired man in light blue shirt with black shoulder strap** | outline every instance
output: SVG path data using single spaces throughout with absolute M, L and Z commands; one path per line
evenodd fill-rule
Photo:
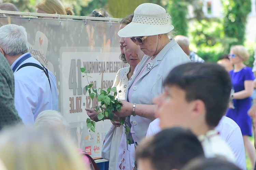
M 14 72 L 15 107 L 23 123 L 33 125 L 40 112 L 58 110 L 56 78 L 28 52 L 24 27 L 0 28 L 0 52 Z

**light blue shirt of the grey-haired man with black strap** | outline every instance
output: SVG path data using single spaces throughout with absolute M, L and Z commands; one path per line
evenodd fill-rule
M 25 53 L 20 56 L 11 68 L 13 69 L 15 64 L 28 54 Z M 27 66 L 17 71 L 25 63 L 35 63 L 40 66 L 41 64 L 33 57 L 29 57 L 20 63 L 14 71 L 15 107 L 23 123 L 29 126 L 34 124 L 34 120 L 42 111 L 48 109 L 58 111 L 58 94 L 56 78 L 51 71 L 48 70 L 52 90 L 45 73 L 41 69 Z

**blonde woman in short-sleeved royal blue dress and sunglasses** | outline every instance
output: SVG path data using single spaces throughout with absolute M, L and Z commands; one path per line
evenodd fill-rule
M 234 93 L 231 92 L 230 107 L 226 116 L 233 119 L 240 127 L 244 140 L 244 148 L 249 156 L 252 167 L 255 166 L 255 151 L 248 136 L 252 136 L 252 120 L 247 114 L 251 107 L 251 95 L 253 92 L 254 75 L 252 69 L 246 67 L 243 62 L 250 57 L 248 51 L 241 45 L 230 49 L 230 62 L 234 69 L 229 72 Z

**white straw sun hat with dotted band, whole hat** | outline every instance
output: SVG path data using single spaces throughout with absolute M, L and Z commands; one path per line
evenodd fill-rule
M 170 19 L 165 8 L 154 3 L 143 3 L 135 9 L 132 22 L 117 34 L 120 37 L 166 34 L 174 29 L 169 23 Z

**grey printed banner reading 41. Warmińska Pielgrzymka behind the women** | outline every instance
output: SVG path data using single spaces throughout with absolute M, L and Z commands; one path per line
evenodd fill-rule
M 101 157 L 102 142 L 111 122 L 97 122 L 96 132 L 87 130 L 85 108 L 94 108 L 99 103 L 97 99 L 91 100 L 85 86 L 93 84 L 95 89 L 107 89 L 113 85 L 117 70 L 127 67 L 119 60 L 119 24 L 0 17 L 1 25 L 7 23 L 26 28 L 29 52 L 54 73 L 59 112 L 70 123 L 71 136 L 77 147 L 93 158 Z M 90 72 L 88 79 L 81 73 L 81 67 Z

